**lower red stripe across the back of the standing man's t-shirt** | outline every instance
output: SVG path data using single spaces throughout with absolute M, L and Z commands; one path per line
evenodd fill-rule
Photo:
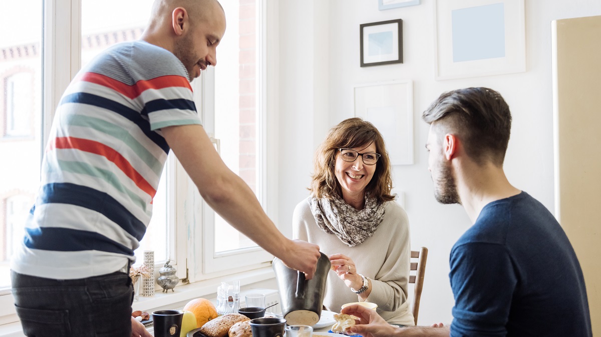
M 156 189 L 154 189 L 153 186 L 150 185 L 150 183 L 148 183 L 148 181 L 132 167 L 125 157 L 103 143 L 76 137 L 56 137 L 53 142 L 48 143 L 47 151 L 52 151 L 52 149 L 55 148 L 76 149 L 84 152 L 90 152 L 91 154 L 101 155 L 117 165 L 117 167 L 123 171 L 123 173 L 129 177 L 129 179 L 132 179 L 136 186 L 142 189 L 142 191 L 148 193 L 148 195 L 153 198 L 154 194 L 156 194 Z

